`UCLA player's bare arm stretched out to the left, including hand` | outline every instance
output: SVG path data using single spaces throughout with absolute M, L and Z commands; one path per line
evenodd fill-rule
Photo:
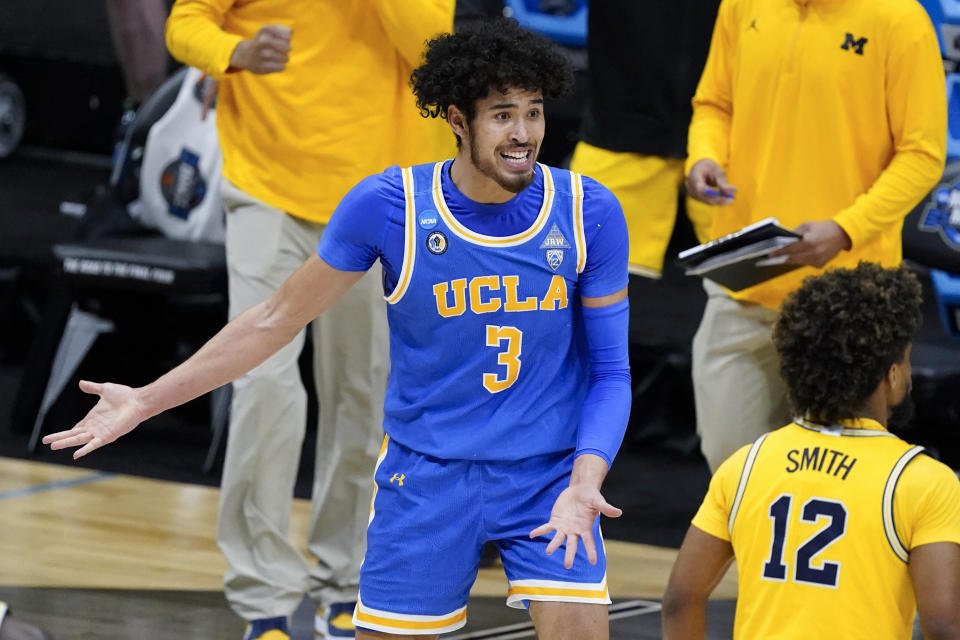
M 136 389 L 81 382 L 83 391 L 100 400 L 76 426 L 46 436 L 44 444 L 51 449 L 80 447 L 73 454 L 79 458 L 147 418 L 240 377 L 290 342 L 362 276 L 359 271 L 338 271 L 317 256 L 309 258 L 275 294 L 234 318 L 186 362 L 154 382 Z

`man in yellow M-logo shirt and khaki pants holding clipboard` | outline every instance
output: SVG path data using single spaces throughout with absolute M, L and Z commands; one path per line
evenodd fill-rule
M 770 216 L 800 236 L 769 254 L 774 277 L 705 281 L 693 380 L 715 470 L 793 417 L 770 340 L 784 297 L 823 268 L 900 262 L 946 155 L 936 33 L 916 0 L 724 0 L 693 105 L 687 190 L 717 205 L 711 236 Z

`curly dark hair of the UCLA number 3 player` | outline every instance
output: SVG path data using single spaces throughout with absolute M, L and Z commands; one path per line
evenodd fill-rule
M 476 102 L 496 89 L 542 91 L 561 98 L 573 86 L 566 56 L 543 36 L 515 20 L 483 20 L 427 43 L 423 63 L 410 76 L 417 107 L 424 117 L 447 117 L 455 105 L 473 120 Z

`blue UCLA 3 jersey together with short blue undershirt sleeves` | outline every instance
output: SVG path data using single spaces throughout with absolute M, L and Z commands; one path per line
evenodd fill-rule
M 447 459 L 572 449 L 588 366 L 579 298 L 627 285 L 620 204 L 597 182 L 543 165 L 508 202 L 477 203 L 450 166 L 365 178 L 317 249 L 341 271 L 383 267 L 384 428 Z

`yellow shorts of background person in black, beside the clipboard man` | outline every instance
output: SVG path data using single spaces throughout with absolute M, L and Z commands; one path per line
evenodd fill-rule
M 577 144 L 570 169 L 593 178 L 620 201 L 630 236 L 630 273 L 659 278 L 677 219 L 683 160 L 609 151 Z M 687 217 L 700 242 L 713 223 L 713 207 L 686 199 Z

